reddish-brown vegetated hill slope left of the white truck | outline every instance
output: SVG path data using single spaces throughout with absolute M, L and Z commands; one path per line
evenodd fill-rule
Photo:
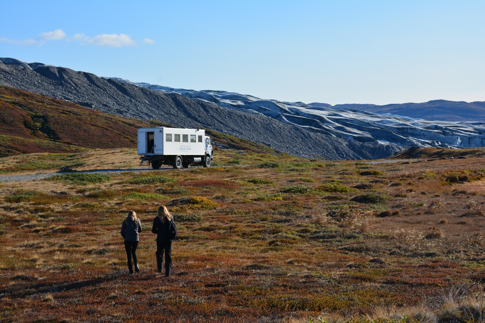
M 0 111 L 0 156 L 134 147 L 137 128 L 149 126 L 6 86 L 0 86 Z

